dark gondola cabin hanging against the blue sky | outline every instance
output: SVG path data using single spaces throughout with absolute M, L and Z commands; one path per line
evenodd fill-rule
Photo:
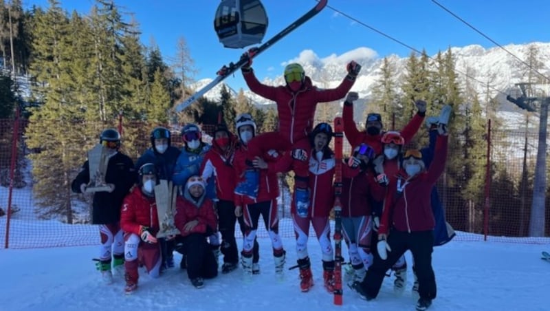
M 259 0 L 222 0 L 214 29 L 224 47 L 241 48 L 261 43 L 267 31 L 267 14 Z

